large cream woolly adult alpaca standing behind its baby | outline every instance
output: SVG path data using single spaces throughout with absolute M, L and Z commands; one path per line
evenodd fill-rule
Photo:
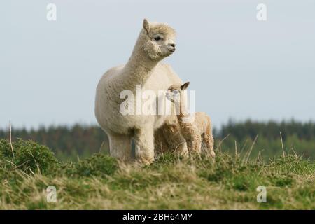
M 170 85 L 181 85 L 182 81 L 170 66 L 160 61 L 175 51 L 174 29 L 163 23 L 149 23 L 144 19 L 132 55 L 123 66 L 106 71 L 97 86 L 95 115 L 99 125 L 109 136 L 110 152 L 121 160 L 131 159 L 131 139 L 134 137 L 136 158 L 144 163 L 154 160 L 154 134 L 159 127 L 172 132 L 178 125 L 176 116 L 166 115 L 123 115 L 120 99 L 123 90 L 131 90 L 135 95 L 136 85 L 142 90 L 167 90 Z M 157 94 L 158 95 L 158 94 Z M 159 134 L 158 134 L 159 135 Z M 180 133 L 172 133 L 173 146 L 179 151 L 187 151 L 185 139 Z M 173 147 L 174 148 L 174 147 Z M 174 148 L 175 149 L 175 148 Z

